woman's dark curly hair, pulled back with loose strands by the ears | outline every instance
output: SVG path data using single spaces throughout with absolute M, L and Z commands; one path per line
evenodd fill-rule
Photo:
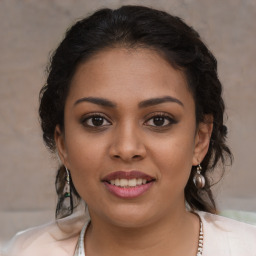
M 211 141 L 201 163 L 206 185 L 201 190 L 195 188 L 193 175 L 196 170 L 192 167 L 185 187 L 185 199 L 193 210 L 216 212 L 211 174 L 219 162 L 224 167 L 227 159 L 232 161 L 232 154 L 226 145 L 227 128 L 223 124 L 225 106 L 217 61 L 192 27 L 164 11 L 132 5 L 118 9 L 104 8 L 78 21 L 66 32 L 52 55 L 48 78 L 40 91 L 39 115 L 46 145 L 54 152 L 55 127 L 59 125 L 64 130 L 65 101 L 77 67 L 97 52 L 114 47 L 143 47 L 157 51 L 172 67 L 184 72 L 195 101 L 197 124 L 205 121 L 205 115 L 212 115 Z M 65 169 L 61 166 L 56 177 L 59 197 L 65 182 L 64 174 Z M 79 195 L 72 180 L 71 190 L 78 204 Z M 56 216 L 68 215 L 61 214 L 61 211 L 61 204 L 58 204 Z

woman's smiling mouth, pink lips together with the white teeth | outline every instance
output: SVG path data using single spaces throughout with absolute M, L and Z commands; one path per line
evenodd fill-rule
M 107 190 L 120 198 L 136 198 L 147 192 L 154 184 L 153 177 L 138 171 L 113 172 L 102 182 Z

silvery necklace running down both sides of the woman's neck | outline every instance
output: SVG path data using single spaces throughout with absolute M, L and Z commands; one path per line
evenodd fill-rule
M 200 230 L 199 230 L 198 247 L 197 247 L 196 256 L 203 255 L 202 253 L 203 253 L 203 242 L 204 242 L 204 230 L 203 230 L 203 222 L 200 216 L 199 216 L 199 220 L 200 220 Z M 85 243 L 86 232 L 88 230 L 88 227 L 90 226 L 90 223 L 91 222 L 86 223 L 80 233 L 74 256 L 86 256 L 85 250 L 84 250 L 84 243 Z

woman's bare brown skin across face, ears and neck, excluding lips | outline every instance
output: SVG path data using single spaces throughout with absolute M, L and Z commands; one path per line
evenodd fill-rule
M 175 100 L 138 107 L 163 96 Z M 103 116 L 101 126 L 92 127 L 92 113 Z M 159 125 L 161 113 L 167 118 Z M 199 220 L 185 209 L 184 188 L 207 153 L 212 123 L 196 125 L 183 72 L 150 49 L 102 50 L 78 67 L 64 117 L 55 141 L 89 207 L 87 255 L 196 255 Z M 156 179 L 138 198 L 118 198 L 101 182 L 110 172 L 134 169 Z

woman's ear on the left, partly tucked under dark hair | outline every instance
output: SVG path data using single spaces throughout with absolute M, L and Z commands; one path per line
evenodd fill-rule
M 67 166 L 67 150 L 65 146 L 65 137 L 64 133 L 61 130 L 59 125 L 56 125 L 54 131 L 54 140 L 56 144 L 57 154 L 61 160 L 61 162 Z

